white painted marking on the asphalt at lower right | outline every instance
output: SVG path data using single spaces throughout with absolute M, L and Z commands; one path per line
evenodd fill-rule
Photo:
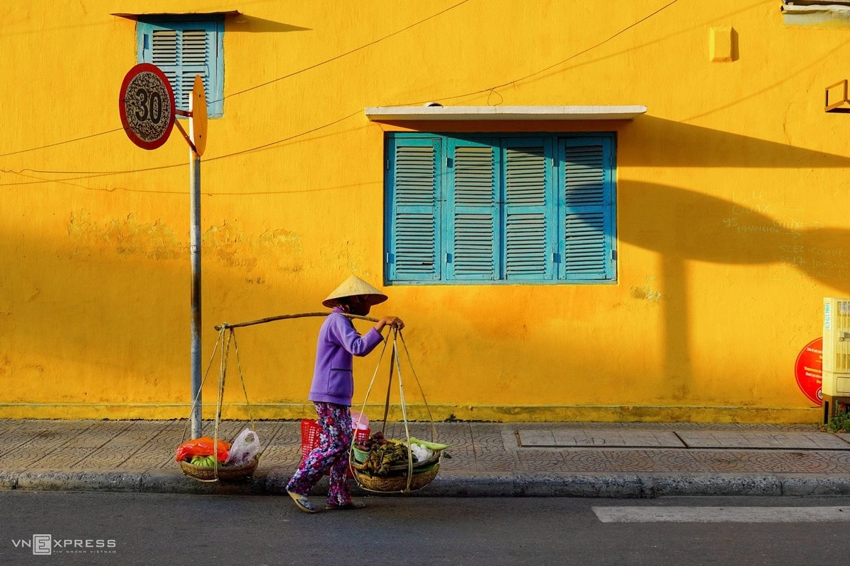
M 593 507 L 603 523 L 818 523 L 850 521 L 850 507 Z

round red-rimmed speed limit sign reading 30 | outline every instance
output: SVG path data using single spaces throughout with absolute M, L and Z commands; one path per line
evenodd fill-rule
M 166 142 L 174 126 L 174 92 L 165 74 L 150 63 L 139 63 L 121 83 L 118 110 L 127 137 L 144 149 Z

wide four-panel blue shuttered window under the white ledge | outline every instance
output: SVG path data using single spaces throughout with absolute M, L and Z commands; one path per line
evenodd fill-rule
M 387 135 L 387 283 L 615 281 L 613 134 Z

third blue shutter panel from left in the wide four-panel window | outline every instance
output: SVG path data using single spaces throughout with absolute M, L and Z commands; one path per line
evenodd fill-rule
M 553 143 L 551 138 L 505 138 L 504 273 L 507 280 L 553 278 Z

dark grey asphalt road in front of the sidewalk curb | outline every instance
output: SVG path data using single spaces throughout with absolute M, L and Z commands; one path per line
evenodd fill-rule
M 309 515 L 277 496 L 2 491 L 0 564 L 808 566 L 850 546 L 850 498 L 363 501 Z

